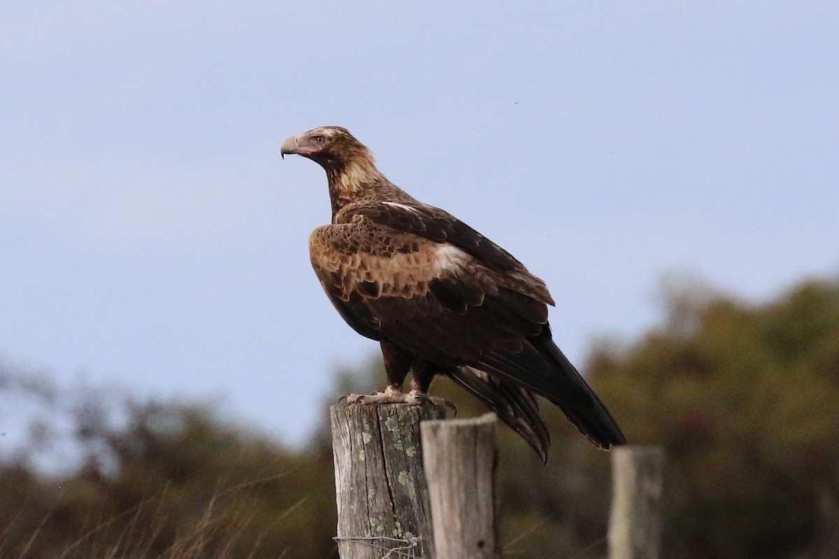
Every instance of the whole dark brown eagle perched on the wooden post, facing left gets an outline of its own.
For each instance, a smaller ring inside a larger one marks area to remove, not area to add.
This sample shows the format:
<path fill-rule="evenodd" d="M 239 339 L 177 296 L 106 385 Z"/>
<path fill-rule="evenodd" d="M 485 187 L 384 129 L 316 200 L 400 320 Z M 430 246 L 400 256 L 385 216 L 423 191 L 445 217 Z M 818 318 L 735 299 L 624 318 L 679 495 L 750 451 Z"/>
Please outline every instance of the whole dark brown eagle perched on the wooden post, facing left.
<path fill-rule="evenodd" d="M 313 128 L 280 150 L 326 171 L 330 225 L 309 237 L 312 267 L 358 334 L 381 345 L 387 387 L 348 404 L 422 404 L 435 375 L 471 391 L 547 463 L 537 396 L 598 448 L 625 444 L 618 423 L 556 346 L 554 300 L 539 277 L 461 220 L 381 173 L 346 128 Z M 412 373 L 410 390 L 404 381 Z"/>

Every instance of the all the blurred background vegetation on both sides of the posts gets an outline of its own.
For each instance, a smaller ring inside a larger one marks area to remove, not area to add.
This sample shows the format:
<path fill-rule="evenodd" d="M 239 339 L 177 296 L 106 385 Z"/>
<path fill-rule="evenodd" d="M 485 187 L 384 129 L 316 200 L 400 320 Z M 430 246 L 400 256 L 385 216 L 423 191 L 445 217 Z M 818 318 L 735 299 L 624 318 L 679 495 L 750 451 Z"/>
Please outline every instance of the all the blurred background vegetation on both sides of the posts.
<path fill-rule="evenodd" d="M 839 279 L 764 303 L 690 283 L 670 285 L 663 300 L 658 325 L 599 342 L 583 367 L 632 443 L 665 448 L 663 556 L 839 556 Z M 380 367 L 338 371 L 306 448 L 213 406 L 62 392 L 0 369 L 0 396 L 42 410 L 0 463 L 0 556 L 336 556 L 326 407 L 379 386 Z M 461 416 L 483 411 L 444 381 L 433 391 Z M 544 412 L 548 467 L 500 430 L 503 556 L 604 556 L 608 454 Z M 62 429 L 81 462 L 40 467 Z"/>

